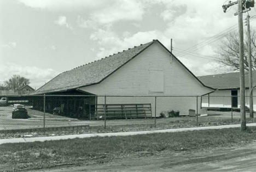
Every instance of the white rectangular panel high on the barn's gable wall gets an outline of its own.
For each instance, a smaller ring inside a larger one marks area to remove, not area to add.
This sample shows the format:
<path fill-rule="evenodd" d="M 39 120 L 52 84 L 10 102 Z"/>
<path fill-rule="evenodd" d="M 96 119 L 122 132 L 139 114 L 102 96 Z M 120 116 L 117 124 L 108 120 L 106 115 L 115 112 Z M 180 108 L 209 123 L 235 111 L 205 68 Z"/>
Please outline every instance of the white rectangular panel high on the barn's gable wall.
<path fill-rule="evenodd" d="M 164 71 L 149 71 L 149 91 L 164 92 Z"/>

